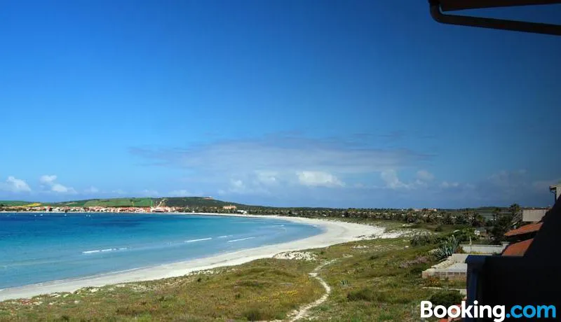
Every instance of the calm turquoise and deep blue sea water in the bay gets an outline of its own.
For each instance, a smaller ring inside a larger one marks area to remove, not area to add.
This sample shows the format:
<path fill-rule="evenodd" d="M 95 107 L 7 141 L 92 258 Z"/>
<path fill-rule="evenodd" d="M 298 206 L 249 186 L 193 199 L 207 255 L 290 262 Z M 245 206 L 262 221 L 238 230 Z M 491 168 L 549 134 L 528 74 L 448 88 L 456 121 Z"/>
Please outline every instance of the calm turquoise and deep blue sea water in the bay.
<path fill-rule="evenodd" d="M 320 232 L 268 218 L 0 214 L 0 288 L 203 258 Z"/>

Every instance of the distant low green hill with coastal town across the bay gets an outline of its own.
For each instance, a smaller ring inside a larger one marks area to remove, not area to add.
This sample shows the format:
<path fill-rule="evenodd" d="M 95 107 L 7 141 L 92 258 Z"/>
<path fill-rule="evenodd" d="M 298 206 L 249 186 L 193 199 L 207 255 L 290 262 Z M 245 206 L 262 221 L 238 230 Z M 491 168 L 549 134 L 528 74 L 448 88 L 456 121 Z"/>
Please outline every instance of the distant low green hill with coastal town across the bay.
<path fill-rule="evenodd" d="M 248 207 L 245 204 L 235 202 L 224 202 L 209 197 L 162 197 L 162 198 L 110 198 L 74 200 L 68 202 L 25 202 L 25 201 L 1 201 L 4 207 L 223 207 L 234 205 L 237 207 Z"/>

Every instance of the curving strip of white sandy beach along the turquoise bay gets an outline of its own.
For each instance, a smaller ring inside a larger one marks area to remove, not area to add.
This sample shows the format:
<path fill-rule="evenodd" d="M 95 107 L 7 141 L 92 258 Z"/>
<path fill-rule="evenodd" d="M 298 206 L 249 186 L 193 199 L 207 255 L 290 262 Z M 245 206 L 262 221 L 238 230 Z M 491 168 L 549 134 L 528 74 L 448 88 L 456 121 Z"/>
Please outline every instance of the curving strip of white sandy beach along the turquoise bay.
<path fill-rule="evenodd" d="M 193 214 L 201 215 L 201 214 Z M 21 286 L 15 288 L 6 288 L 0 290 L 0 301 L 32 297 L 46 293 L 57 292 L 74 292 L 79 288 L 88 286 L 104 286 L 115 283 L 126 283 L 134 281 L 149 281 L 154 279 L 163 279 L 167 277 L 182 276 L 190 272 L 212 269 L 220 266 L 239 265 L 244 262 L 250 262 L 259 258 L 272 258 L 277 253 L 286 251 L 299 251 L 309 248 L 321 248 L 334 244 L 344 243 L 346 241 L 355 241 L 360 239 L 367 239 L 379 237 L 384 233 L 384 228 L 379 228 L 371 225 L 360 225 L 356 223 L 344 223 L 342 221 L 328 221 L 322 219 L 299 218 L 299 217 L 285 217 L 285 216 L 252 216 L 252 215 L 237 215 L 237 214 L 203 214 L 212 216 L 244 216 L 256 218 L 277 218 L 285 219 L 295 223 L 304 223 L 309 225 L 316 225 L 323 229 L 323 233 L 289 241 L 283 244 L 275 244 L 269 246 L 262 246 L 258 248 L 250 248 L 242 251 L 232 253 L 223 253 L 208 258 L 201 258 L 196 260 L 188 260 L 184 262 L 174 262 L 171 264 L 158 265 L 154 267 L 144 267 L 140 269 L 128 270 L 126 272 L 116 272 L 110 274 L 102 274 L 97 276 L 90 276 L 83 279 L 69 279 L 63 281 L 52 281 L 48 283 L 38 283 L 28 286 Z"/>

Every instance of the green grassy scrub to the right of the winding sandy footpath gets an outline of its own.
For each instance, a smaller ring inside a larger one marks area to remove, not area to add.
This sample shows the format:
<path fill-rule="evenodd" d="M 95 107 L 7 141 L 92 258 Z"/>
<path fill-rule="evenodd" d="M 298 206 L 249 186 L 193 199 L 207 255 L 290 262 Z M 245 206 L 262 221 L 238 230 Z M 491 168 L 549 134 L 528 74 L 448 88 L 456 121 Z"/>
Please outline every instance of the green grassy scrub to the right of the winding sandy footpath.
<path fill-rule="evenodd" d="M 407 239 L 325 248 L 320 255 L 339 260 L 323 269 L 332 293 L 311 315 L 317 321 L 419 321 L 420 301 L 436 292 L 421 279 L 435 263 L 431 248 L 412 248 Z"/>

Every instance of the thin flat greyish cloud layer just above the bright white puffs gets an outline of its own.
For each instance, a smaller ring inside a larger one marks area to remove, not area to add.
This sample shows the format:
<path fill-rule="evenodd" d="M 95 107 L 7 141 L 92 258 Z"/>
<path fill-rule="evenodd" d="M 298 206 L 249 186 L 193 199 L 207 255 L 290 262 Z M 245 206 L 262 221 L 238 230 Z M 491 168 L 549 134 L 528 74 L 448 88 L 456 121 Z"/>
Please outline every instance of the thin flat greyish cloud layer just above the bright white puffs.
<path fill-rule="evenodd" d="M 380 149 L 352 141 L 303 137 L 266 137 L 218 141 L 189 148 L 133 148 L 131 153 L 156 165 L 181 167 L 205 175 L 295 173 L 314 169 L 330 174 L 367 174 L 414 165 L 428 158 L 407 149 Z"/>

